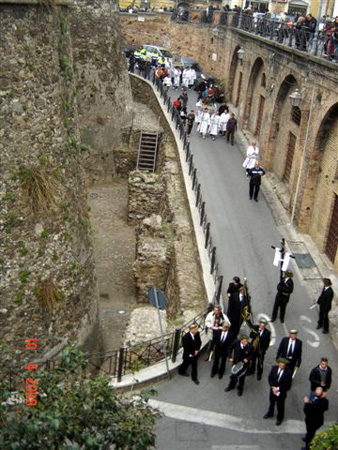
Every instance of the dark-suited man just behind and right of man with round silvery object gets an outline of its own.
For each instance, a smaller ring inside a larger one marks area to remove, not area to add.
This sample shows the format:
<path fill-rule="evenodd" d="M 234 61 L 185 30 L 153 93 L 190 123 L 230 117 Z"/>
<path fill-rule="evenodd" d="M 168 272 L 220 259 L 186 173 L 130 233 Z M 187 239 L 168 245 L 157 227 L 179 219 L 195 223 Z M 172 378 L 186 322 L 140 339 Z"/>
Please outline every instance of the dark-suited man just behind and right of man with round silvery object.
<path fill-rule="evenodd" d="M 252 339 L 253 358 L 249 374 L 254 374 L 257 361 L 257 380 L 262 378 L 265 353 L 270 345 L 271 331 L 266 328 L 267 321 L 261 319 L 258 325 L 252 327 L 250 338 Z"/>

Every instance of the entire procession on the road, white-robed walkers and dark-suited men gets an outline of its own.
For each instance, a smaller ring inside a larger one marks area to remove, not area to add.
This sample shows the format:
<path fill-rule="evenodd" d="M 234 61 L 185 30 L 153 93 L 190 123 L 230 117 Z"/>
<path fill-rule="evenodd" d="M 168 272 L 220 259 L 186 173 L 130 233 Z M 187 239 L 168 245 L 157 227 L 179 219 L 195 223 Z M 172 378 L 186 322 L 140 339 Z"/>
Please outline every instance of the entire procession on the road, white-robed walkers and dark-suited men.
<path fill-rule="evenodd" d="M 162 67 L 156 71 L 156 77 L 161 79 L 166 88 L 173 88 L 177 92 L 173 101 L 174 109 L 179 113 L 189 138 L 195 132 L 203 139 L 210 137 L 211 141 L 223 139 L 222 142 L 234 145 L 237 131 L 237 119 L 225 102 L 215 102 L 215 91 L 212 84 L 201 83 L 195 86 L 198 93 L 195 109 L 188 113 L 188 100 L 190 89 L 195 84 L 179 67 Z M 246 150 L 243 162 L 245 175 L 249 179 L 249 199 L 258 201 L 261 179 L 265 170 L 260 165 L 260 149 L 255 140 Z M 317 300 L 319 317 L 317 330 L 322 329 L 323 334 L 329 331 L 329 312 L 334 296 L 331 280 L 323 279 L 323 289 Z M 257 381 L 262 380 L 263 374 L 269 384 L 266 399 L 267 410 L 263 419 L 273 418 L 276 409 L 276 426 L 280 426 L 285 418 L 285 404 L 289 391 L 294 384 L 294 378 L 301 367 L 303 342 L 296 329 L 290 329 L 288 336 L 284 336 L 277 343 L 275 363 L 272 367 L 265 367 L 265 357 L 271 353 L 271 329 L 269 323 L 277 320 L 283 324 L 286 308 L 294 290 L 293 273 L 286 270 L 277 284 L 277 292 L 272 306 L 269 320 L 259 317 L 254 323 L 251 308 L 251 298 L 247 286 L 235 276 L 227 290 L 227 310 L 223 311 L 220 305 L 214 305 L 205 319 L 205 333 L 207 335 L 206 348 L 202 348 L 200 331 L 204 327 L 192 324 L 182 338 L 183 362 L 178 370 L 181 376 L 191 376 L 196 385 L 200 385 L 198 377 L 198 360 L 204 352 L 204 361 L 210 364 L 210 377 L 223 379 L 228 382 L 224 391 L 231 397 L 231 391 L 236 390 L 238 397 L 245 396 L 245 386 L 252 383 L 253 375 Z M 225 305 L 224 305 L 225 306 Z M 189 374 L 190 371 L 190 374 Z M 252 378 L 250 378 L 250 376 Z M 324 423 L 324 413 L 329 408 L 327 392 L 332 383 L 332 369 L 328 365 L 326 356 L 308 375 L 310 386 L 308 395 L 304 397 L 304 414 L 306 435 L 303 440 L 305 449 L 310 449 L 311 441 L 316 431 Z M 265 378 L 264 377 L 264 378 Z M 225 395 L 225 394 L 224 394 Z"/>

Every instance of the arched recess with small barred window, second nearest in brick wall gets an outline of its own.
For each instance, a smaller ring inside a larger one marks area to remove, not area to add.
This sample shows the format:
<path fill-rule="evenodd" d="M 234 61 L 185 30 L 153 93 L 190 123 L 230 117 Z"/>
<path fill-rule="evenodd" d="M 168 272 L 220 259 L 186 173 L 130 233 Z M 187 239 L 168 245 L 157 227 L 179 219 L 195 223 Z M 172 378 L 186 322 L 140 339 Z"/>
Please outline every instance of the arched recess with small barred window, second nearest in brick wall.
<path fill-rule="evenodd" d="M 282 148 L 281 142 L 288 142 L 290 133 L 295 135 L 296 138 L 299 136 L 297 125 L 291 121 L 291 105 L 289 102 L 289 95 L 297 87 L 299 88 L 299 83 L 292 74 L 287 75 L 280 84 L 273 107 L 268 143 L 264 153 L 265 166 L 269 170 L 275 171 L 281 180 L 283 179 L 287 151 L 287 149 Z M 277 147 L 281 151 L 278 151 L 276 156 Z"/>

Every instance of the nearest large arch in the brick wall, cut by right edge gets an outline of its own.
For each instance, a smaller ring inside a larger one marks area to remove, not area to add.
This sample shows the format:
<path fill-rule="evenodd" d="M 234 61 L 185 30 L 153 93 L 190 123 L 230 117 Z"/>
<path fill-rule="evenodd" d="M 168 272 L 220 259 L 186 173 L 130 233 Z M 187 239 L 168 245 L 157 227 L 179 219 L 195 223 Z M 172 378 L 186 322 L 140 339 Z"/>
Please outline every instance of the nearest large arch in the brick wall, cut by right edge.
<path fill-rule="evenodd" d="M 338 102 L 328 109 L 315 136 L 299 220 L 300 228 L 309 232 L 323 253 L 338 195 L 337 142 Z M 337 252 L 331 261 L 338 266 Z"/>

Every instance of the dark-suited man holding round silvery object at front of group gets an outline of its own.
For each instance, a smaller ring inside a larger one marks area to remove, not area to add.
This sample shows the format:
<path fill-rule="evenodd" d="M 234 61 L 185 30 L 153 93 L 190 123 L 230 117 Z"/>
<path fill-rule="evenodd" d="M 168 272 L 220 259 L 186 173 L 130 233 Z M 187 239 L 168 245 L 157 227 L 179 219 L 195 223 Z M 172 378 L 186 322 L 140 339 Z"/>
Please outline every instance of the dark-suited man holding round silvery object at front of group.
<path fill-rule="evenodd" d="M 246 372 L 249 369 L 252 360 L 252 346 L 249 344 L 248 336 L 244 334 L 241 336 L 240 340 L 236 339 L 229 348 L 229 355 L 232 354 L 233 357 L 229 359 L 232 361 L 233 365 L 241 362 L 243 363 L 243 368 L 237 373 L 232 373 L 229 385 L 224 390 L 225 392 L 229 392 L 232 389 L 235 389 L 238 382 L 237 394 L 241 397 L 243 395 Z"/>

